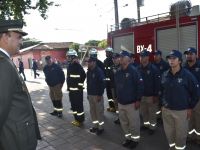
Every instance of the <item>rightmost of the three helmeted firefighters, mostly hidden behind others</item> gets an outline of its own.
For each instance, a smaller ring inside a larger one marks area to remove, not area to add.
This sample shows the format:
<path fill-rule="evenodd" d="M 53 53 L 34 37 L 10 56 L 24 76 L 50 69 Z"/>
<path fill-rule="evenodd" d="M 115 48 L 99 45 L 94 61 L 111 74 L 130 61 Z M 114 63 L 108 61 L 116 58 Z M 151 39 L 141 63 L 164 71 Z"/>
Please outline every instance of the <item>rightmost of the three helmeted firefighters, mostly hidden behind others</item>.
<path fill-rule="evenodd" d="M 111 81 L 110 81 L 110 76 L 111 76 L 111 67 L 113 66 L 113 61 L 112 61 L 112 55 L 113 55 L 113 48 L 108 47 L 106 48 L 106 59 L 104 60 L 104 66 L 105 66 L 105 80 L 106 80 L 106 94 L 108 98 L 108 104 L 109 107 L 107 108 L 107 111 L 110 112 L 115 112 L 115 104 L 114 100 L 112 97 L 112 89 L 111 89 Z"/>

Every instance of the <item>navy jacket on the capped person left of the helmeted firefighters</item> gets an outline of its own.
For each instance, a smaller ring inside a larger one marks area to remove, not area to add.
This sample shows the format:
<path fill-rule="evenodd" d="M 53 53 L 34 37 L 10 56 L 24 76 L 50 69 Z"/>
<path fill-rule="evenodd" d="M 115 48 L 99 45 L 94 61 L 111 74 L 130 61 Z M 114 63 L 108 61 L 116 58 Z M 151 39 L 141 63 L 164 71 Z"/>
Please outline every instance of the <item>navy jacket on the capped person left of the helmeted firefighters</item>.
<path fill-rule="evenodd" d="M 51 87 L 65 82 L 65 75 L 62 68 L 55 63 L 52 63 L 50 66 L 45 65 L 43 72 L 47 85 Z"/>

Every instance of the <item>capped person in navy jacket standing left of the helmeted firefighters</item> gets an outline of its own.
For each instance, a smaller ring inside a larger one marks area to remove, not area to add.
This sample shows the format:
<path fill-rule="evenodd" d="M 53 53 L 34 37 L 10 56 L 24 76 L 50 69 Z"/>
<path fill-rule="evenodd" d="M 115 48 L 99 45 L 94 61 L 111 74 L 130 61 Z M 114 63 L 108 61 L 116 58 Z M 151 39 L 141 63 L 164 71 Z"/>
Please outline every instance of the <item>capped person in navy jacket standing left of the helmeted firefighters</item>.
<path fill-rule="evenodd" d="M 51 56 L 46 56 L 45 61 L 46 65 L 44 66 L 43 72 L 45 81 L 49 86 L 49 95 L 54 106 L 54 111 L 50 114 L 61 118 L 63 111 L 62 87 L 65 82 L 65 75 L 62 68 L 52 61 Z"/>

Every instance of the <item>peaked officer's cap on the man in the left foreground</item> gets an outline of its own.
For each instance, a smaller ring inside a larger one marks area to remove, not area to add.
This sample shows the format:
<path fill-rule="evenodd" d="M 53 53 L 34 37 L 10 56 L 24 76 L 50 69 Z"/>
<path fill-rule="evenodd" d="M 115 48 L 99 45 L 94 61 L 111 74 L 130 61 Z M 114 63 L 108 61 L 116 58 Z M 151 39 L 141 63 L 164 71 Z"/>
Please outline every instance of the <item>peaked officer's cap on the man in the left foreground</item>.
<path fill-rule="evenodd" d="M 17 32 L 22 36 L 27 35 L 28 33 L 22 30 L 23 22 L 21 20 L 0 20 L 0 33 L 5 32 Z"/>

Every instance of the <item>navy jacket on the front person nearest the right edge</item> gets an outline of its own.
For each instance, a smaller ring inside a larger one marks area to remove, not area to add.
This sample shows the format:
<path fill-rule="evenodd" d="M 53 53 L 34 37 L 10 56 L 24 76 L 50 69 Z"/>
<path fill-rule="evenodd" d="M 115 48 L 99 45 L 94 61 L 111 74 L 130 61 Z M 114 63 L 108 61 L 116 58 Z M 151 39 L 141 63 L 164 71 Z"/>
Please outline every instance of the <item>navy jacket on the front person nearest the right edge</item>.
<path fill-rule="evenodd" d="M 198 101 L 198 82 L 184 68 L 175 75 L 170 70 L 163 73 L 161 80 L 161 100 L 164 107 L 172 110 L 193 108 Z"/>

